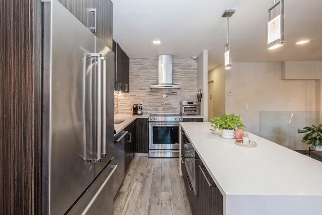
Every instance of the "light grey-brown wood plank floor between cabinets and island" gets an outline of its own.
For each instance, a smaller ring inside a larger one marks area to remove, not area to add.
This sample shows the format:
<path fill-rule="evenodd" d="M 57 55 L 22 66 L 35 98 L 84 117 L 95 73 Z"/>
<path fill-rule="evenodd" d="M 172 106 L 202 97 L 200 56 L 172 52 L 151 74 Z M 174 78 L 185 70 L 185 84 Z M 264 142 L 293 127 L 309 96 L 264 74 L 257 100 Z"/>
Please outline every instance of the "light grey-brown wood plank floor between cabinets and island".
<path fill-rule="evenodd" d="M 115 198 L 116 214 L 192 214 L 179 159 L 134 157 Z"/>

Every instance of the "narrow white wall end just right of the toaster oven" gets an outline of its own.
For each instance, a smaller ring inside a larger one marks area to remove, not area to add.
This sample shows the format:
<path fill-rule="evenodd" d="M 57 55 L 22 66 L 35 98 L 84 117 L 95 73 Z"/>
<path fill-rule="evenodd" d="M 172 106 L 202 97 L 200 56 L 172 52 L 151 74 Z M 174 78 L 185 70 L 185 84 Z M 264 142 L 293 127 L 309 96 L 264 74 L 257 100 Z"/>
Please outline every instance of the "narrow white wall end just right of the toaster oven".
<path fill-rule="evenodd" d="M 202 90 L 200 114 L 208 121 L 208 50 L 203 50 L 197 58 L 197 90 Z"/>

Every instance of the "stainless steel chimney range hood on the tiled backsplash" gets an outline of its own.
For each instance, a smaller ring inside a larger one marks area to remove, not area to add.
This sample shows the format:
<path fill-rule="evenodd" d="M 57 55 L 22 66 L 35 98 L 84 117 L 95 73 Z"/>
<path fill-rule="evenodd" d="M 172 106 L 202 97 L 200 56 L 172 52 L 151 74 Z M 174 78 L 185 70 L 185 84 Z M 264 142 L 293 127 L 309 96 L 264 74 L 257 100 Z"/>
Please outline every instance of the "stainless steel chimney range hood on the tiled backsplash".
<path fill-rule="evenodd" d="M 159 55 L 159 82 L 149 88 L 179 89 L 181 85 L 172 83 L 172 55 Z"/>

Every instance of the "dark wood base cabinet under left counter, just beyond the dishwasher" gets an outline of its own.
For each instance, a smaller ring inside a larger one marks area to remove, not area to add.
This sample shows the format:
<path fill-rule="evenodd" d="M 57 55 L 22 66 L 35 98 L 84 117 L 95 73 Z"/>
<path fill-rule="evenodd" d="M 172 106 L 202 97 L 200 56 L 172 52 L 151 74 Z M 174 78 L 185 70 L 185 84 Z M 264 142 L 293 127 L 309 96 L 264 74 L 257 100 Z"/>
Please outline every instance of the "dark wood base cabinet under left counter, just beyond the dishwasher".
<path fill-rule="evenodd" d="M 133 121 L 129 124 L 125 129 L 128 131 L 128 135 L 125 138 L 124 143 L 124 151 L 125 151 L 125 172 L 127 171 L 133 157 L 134 157 L 134 149 L 136 142 L 136 121 Z"/>

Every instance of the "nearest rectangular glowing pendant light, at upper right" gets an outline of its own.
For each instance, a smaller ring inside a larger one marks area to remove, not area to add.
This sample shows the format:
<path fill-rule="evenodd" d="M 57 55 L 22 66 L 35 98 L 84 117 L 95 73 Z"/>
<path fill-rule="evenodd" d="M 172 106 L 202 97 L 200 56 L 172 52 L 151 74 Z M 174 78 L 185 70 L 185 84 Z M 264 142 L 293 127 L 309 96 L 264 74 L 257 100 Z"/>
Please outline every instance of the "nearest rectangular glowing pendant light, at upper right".
<path fill-rule="evenodd" d="M 272 16 L 278 6 L 280 7 L 278 15 Z M 273 7 L 268 10 L 267 49 L 275 49 L 282 45 L 284 45 L 284 0 L 279 2 L 274 0 Z"/>

